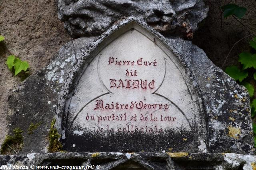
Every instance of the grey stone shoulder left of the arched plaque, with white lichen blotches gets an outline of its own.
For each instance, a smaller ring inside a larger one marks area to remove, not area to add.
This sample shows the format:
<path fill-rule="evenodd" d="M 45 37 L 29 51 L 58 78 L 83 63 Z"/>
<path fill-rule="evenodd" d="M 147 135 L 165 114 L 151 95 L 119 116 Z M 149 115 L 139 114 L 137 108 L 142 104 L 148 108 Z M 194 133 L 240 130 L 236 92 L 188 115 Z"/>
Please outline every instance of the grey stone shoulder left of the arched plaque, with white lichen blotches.
<path fill-rule="evenodd" d="M 76 57 L 93 41 L 94 37 L 74 41 Z M 29 76 L 8 97 L 8 129 L 20 127 L 24 133 L 24 149 L 21 152 L 47 152 L 50 123 L 55 115 L 58 96 L 75 55 L 72 42 L 64 45 L 51 63 Z M 28 134 L 31 123 L 41 123 L 34 134 Z"/>

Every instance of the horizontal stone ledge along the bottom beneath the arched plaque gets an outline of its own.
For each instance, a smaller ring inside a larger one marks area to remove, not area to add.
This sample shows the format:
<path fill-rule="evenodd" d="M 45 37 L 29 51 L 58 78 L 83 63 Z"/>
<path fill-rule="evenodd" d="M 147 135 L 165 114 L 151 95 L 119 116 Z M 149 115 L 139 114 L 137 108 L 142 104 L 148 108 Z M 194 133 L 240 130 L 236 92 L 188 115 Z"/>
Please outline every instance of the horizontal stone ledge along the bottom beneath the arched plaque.
<path fill-rule="evenodd" d="M 10 166 L 24 166 L 24 169 L 69 170 L 86 169 L 86 166 L 87 169 L 100 167 L 102 170 L 256 170 L 256 156 L 187 152 L 58 152 L 0 155 L 0 169 L 9 169 Z"/>

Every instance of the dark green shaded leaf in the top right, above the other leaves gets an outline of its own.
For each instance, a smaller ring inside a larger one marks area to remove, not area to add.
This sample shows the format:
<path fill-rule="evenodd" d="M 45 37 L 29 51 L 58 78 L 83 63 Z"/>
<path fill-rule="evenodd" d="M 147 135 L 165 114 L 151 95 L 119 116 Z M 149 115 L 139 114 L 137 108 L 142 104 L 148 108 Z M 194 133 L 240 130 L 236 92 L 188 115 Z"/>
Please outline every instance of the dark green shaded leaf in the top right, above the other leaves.
<path fill-rule="evenodd" d="M 221 9 L 223 10 L 224 18 L 235 15 L 236 17 L 241 19 L 247 12 L 246 8 L 238 6 L 236 4 L 227 4 L 222 6 Z"/>

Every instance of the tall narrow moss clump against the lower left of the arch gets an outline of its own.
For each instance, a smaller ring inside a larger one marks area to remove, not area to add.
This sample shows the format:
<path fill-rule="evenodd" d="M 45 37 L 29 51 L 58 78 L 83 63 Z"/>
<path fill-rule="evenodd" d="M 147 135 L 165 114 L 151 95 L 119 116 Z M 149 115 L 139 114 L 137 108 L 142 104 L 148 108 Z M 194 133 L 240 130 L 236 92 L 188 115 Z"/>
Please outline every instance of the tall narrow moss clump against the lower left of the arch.
<path fill-rule="evenodd" d="M 58 133 L 57 129 L 54 127 L 56 119 L 52 120 L 51 128 L 49 131 L 49 146 L 48 152 L 63 152 L 62 150 L 62 143 L 60 143 L 59 138 L 60 134 Z"/>

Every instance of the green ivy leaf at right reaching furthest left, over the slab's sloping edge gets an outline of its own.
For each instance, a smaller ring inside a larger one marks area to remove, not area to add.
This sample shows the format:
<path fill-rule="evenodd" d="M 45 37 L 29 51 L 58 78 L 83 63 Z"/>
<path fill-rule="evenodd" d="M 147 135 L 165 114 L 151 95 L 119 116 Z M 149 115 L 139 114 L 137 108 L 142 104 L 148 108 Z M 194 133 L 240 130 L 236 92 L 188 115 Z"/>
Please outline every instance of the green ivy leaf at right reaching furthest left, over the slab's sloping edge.
<path fill-rule="evenodd" d="M 243 70 L 241 71 L 237 66 L 228 66 L 225 70 L 225 72 L 235 80 L 239 80 L 242 82 L 247 76 L 248 72 Z"/>

